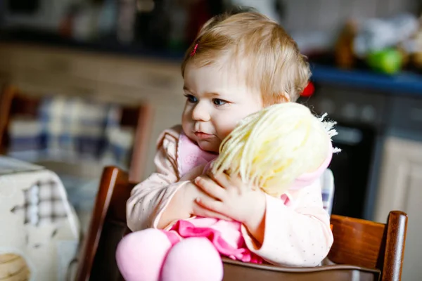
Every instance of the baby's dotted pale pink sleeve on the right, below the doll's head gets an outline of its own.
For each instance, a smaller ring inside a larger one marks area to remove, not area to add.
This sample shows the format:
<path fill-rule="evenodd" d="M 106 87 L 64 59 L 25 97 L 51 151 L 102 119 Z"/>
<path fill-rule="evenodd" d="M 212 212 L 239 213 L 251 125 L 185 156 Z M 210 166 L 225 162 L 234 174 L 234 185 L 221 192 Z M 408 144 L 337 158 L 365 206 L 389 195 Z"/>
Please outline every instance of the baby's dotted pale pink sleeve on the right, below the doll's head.
<path fill-rule="evenodd" d="M 321 181 L 290 190 L 290 202 L 267 195 L 264 241 L 257 245 L 243 227 L 248 248 L 269 263 L 317 266 L 333 244 L 330 218 L 321 198 Z"/>

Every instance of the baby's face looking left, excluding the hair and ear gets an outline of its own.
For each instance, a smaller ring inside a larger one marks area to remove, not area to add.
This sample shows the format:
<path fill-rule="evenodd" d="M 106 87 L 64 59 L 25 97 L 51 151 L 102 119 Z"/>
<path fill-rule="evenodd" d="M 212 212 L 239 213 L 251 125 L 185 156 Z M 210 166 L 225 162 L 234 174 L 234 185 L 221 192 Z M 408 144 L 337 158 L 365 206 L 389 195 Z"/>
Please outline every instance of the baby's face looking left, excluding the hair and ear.
<path fill-rule="evenodd" d="M 218 152 L 236 124 L 263 107 L 261 93 L 248 89 L 237 76 L 215 65 L 186 65 L 182 126 L 203 150 Z"/>

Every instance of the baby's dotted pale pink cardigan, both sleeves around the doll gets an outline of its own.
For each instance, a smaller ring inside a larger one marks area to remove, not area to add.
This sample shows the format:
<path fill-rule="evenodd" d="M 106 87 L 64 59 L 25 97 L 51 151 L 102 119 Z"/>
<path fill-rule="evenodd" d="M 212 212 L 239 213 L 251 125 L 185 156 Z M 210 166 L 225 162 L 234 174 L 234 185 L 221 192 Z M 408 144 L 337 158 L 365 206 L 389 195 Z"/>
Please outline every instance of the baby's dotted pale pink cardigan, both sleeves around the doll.
<path fill-rule="evenodd" d="M 157 228 L 174 193 L 188 182 L 179 181 L 177 144 L 180 132 L 181 126 L 175 126 L 161 134 L 154 161 L 157 171 L 132 190 L 127 202 L 127 224 L 132 231 Z M 264 242 L 257 245 L 248 231 L 244 227 L 241 229 L 248 249 L 273 264 L 318 265 L 333 244 L 329 216 L 322 204 L 321 181 L 289 190 L 283 199 L 269 195 L 266 198 Z"/>

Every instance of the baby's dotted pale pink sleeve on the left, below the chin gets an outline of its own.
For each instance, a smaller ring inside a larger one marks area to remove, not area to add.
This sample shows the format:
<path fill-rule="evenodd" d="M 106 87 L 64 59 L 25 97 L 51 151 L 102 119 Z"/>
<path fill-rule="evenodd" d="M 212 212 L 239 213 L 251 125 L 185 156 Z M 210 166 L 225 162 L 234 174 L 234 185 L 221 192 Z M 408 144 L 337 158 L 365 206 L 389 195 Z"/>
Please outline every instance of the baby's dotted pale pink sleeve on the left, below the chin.
<path fill-rule="evenodd" d="M 132 230 L 156 228 L 173 195 L 187 181 L 177 170 L 178 129 L 166 130 L 158 141 L 156 172 L 134 187 L 126 204 L 127 226 Z"/>

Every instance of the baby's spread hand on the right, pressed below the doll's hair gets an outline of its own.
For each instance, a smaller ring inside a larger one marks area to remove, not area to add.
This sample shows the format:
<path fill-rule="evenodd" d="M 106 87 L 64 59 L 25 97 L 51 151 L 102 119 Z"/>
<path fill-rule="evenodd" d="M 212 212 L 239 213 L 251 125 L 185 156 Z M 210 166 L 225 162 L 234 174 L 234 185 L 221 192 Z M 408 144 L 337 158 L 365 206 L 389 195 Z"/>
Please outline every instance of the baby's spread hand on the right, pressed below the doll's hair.
<path fill-rule="evenodd" d="M 239 176 L 227 174 L 199 176 L 194 181 L 207 196 L 196 199 L 196 213 L 212 211 L 243 223 L 248 230 L 259 228 L 265 214 L 265 195 L 260 188 L 252 188 Z M 201 215 L 201 214 L 198 214 Z"/>

